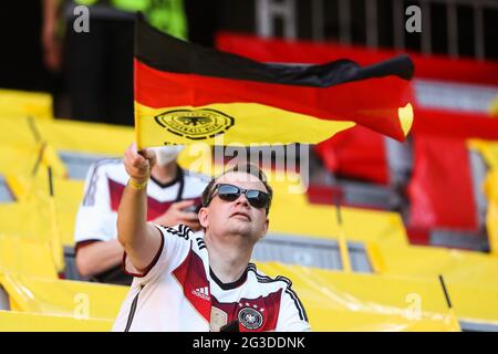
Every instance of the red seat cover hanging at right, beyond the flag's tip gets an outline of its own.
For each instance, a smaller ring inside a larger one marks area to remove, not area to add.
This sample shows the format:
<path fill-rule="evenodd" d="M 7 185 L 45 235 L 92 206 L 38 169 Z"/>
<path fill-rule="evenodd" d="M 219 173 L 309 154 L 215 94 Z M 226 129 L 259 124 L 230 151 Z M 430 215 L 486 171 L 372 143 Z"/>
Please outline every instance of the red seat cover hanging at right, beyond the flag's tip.
<path fill-rule="evenodd" d="M 414 147 L 409 226 L 474 231 L 477 212 L 465 140 L 416 136 Z"/>

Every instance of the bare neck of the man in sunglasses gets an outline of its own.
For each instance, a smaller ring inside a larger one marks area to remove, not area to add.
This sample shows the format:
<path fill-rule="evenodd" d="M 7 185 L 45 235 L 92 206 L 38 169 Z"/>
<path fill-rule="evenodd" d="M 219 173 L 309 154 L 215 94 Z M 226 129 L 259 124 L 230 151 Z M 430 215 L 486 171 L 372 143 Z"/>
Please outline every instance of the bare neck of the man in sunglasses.
<path fill-rule="evenodd" d="M 219 237 L 206 232 L 204 239 L 216 277 L 224 283 L 240 279 L 251 259 L 253 244 L 239 236 Z"/>

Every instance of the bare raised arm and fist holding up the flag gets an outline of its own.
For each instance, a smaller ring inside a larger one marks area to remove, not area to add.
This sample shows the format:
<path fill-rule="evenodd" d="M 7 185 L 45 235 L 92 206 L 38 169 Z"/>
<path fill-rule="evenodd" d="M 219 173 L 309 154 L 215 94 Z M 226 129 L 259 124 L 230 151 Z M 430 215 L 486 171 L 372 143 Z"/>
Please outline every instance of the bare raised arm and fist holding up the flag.
<path fill-rule="evenodd" d="M 131 145 L 124 156 L 128 184 L 117 210 L 117 239 L 138 270 L 146 269 L 160 247 L 160 231 L 147 223 L 147 188 L 151 168 L 155 164 L 151 149 L 137 153 Z"/>

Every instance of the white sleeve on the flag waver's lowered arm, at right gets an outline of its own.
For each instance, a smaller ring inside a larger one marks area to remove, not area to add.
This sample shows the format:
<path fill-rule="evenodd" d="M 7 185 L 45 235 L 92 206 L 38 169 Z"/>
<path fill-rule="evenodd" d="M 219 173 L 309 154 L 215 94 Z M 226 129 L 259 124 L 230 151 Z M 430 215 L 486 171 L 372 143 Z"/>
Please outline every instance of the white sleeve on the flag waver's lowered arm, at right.
<path fill-rule="evenodd" d="M 307 313 L 295 292 L 290 288 L 282 290 L 279 319 L 276 332 L 309 332 Z"/>

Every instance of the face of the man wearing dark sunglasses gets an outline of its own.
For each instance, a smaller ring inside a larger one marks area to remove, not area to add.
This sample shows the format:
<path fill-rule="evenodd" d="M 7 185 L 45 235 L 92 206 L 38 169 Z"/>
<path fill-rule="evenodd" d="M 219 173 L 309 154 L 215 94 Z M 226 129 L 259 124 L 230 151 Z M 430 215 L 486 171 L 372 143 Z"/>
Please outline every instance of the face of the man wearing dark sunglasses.
<path fill-rule="evenodd" d="M 268 192 L 258 177 L 246 173 L 229 173 L 216 180 L 216 185 L 229 184 L 243 189 L 258 189 Z M 228 236 L 241 235 L 257 242 L 267 233 L 269 220 L 264 208 L 255 208 L 241 194 L 234 201 L 226 201 L 217 192 L 208 207 L 199 211 L 200 225 L 206 232 Z"/>

